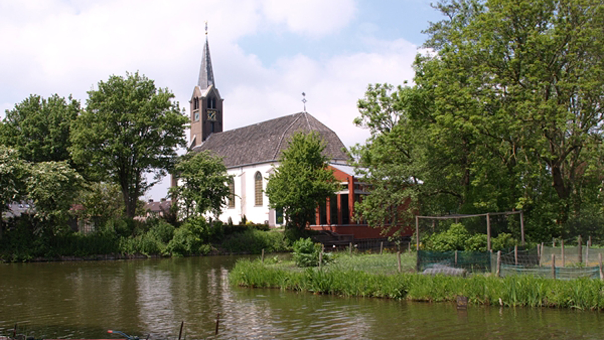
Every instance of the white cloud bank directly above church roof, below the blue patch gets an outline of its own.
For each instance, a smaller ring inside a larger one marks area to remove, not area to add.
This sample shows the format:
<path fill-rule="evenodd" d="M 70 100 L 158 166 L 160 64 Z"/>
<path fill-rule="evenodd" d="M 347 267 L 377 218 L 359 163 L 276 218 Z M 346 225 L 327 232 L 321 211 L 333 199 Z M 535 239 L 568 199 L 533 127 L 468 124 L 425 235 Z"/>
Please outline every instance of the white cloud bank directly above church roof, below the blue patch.
<path fill-rule="evenodd" d="M 402 41 L 374 41 L 383 53 L 352 53 L 315 60 L 298 55 L 279 59 L 272 69 L 259 68 L 257 77 L 239 79 L 234 88 L 222 87 L 225 127 L 245 126 L 303 109 L 338 133 L 346 146 L 363 142 L 368 132 L 352 125 L 358 116 L 356 101 L 369 83 L 402 84 L 413 79 L 411 64 L 417 47 Z M 402 48 L 404 46 L 404 48 Z M 261 71 L 262 70 L 262 71 Z M 220 80 L 219 74 L 214 74 Z M 219 87 L 220 88 L 220 87 Z"/>

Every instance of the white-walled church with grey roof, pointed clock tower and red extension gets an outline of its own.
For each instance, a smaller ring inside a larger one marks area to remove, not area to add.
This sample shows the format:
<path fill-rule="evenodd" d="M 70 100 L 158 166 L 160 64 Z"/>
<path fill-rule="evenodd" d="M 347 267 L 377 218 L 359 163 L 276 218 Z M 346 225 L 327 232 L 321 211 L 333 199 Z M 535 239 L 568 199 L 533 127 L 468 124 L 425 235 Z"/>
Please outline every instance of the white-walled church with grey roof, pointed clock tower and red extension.
<path fill-rule="evenodd" d="M 216 87 L 210 48 L 206 35 L 198 84 L 190 100 L 189 152 L 211 151 L 223 158 L 230 183 L 231 197 L 220 220 L 239 223 L 243 217 L 270 227 L 284 223 L 283 212 L 269 209 L 265 194 L 266 178 L 278 166 L 281 151 L 288 147 L 291 136 L 298 131 L 316 131 L 326 143 L 324 153 L 341 190 L 317 208 L 316 221 L 310 227 L 356 238 L 380 237 L 379 230 L 353 220 L 355 201 L 367 194 L 362 183 L 353 176 L 345 146 L 330 128 L 306 111 L 289 114 L 265 122 L 223 131 L 223 119 L 235 119 L 237 113 L 223 112 L 223 99 Z"/>

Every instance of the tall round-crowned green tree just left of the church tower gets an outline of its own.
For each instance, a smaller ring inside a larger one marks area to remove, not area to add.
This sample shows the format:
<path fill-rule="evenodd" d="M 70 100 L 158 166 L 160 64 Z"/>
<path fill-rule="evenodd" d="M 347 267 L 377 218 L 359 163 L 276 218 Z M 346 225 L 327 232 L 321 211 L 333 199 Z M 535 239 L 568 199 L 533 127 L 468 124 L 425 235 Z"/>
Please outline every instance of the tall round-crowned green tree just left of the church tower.
<path fill-rule="evenodd" d="M 176 148 L 185 146 L 187 117 L 169 90 L 138 72 L 100 81 L 88 96 L 72 126 L 72 156 L 88 167 L 91 178 L 120 186 L 132 218 L 138 198 L 172 169 Z"/>

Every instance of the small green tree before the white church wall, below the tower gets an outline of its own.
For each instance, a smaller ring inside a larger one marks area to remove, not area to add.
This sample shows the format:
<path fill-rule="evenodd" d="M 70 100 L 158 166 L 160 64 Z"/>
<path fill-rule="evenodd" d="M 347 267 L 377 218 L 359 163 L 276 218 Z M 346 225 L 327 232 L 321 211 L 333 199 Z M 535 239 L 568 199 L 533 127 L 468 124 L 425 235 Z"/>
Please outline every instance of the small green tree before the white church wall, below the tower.
<path fill-rule="evenodd" d="M 206 212 L 220 215 L 230 194 L 231 176 L 220 157 L 208 151 L 189 152 L 174 169 L 178 186 L 170 188 L 178 213 L 184 218 L 201 217 Z"/>

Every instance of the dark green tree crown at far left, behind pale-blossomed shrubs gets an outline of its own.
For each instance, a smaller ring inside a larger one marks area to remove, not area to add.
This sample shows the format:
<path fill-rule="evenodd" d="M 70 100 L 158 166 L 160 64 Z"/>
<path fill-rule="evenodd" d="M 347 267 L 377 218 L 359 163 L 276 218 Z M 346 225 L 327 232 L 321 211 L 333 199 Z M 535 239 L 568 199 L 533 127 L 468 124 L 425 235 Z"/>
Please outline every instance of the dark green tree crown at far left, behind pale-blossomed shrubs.
<path fill-rule="evenodd" d="M 30 162 L 71 160 L 70 126 L 79 111 L 80 102 L 71 96 L 44 99 L 32 94 L 5 111 L 0 143 L 17 149 Z"/>

